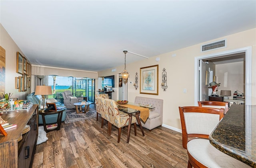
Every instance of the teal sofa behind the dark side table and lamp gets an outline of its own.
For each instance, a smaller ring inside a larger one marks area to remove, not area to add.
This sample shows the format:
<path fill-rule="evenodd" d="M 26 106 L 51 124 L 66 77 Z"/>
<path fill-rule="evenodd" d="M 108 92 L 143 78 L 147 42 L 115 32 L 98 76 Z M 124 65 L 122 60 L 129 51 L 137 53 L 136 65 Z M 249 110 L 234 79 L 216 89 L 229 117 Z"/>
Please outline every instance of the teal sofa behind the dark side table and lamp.
<path fill-rule="evenodd" d="M 40 98 L 42 98 L 42 96 L 41 95 L 35 95 L 35 92 L 32 92 L 31 94 L 29 94 L 27 96 L 27 100 L 29 100 L 32 104 L 38 104 L 38 105 L 40 105 Z M 57 100 L 55 100 L 55 99 L 49 99 L 49 100 L 46 100 L 46 102 L 47 103 L 55 103 L 56 107 L 65 107 L 60 102 L 57 102 Z M 58 114 L 45 115 L 46 124 L 56 123 L 57 122 L 57 117 L 58 117 Z M 66 110 L 64 110 L 63 113 L 62 113 L 61 121 L 65 121 L 65 119 L 66 119 Z M 39 115 L 38 123 L 43 124 L 42 115 Z"/>

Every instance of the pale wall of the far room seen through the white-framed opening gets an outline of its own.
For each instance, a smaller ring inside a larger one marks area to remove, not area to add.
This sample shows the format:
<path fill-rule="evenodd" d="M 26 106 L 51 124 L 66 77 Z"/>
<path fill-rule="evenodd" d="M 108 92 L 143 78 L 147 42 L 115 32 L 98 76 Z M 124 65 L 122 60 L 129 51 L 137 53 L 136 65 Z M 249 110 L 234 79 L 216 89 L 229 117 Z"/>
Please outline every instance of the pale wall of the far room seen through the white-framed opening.
<path fill-rule="evenodd" d="M 220 90 L 231 90 L 230 99 L 236 90 L 245 93 L 245 63 L 228 63 L 216 65 L 216 76 L 220 87 L 217 94 L 220 95 Z M 226 78 L 226 79 L 225 79 Z"/>

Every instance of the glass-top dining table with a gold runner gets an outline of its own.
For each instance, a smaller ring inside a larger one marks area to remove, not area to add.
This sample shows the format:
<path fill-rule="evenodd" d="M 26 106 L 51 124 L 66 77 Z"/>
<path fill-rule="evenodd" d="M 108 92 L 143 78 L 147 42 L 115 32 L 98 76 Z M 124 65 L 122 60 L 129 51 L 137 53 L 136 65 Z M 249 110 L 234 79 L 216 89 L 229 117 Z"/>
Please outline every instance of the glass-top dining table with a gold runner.
<path fill-rule="evenodd" d="M 155 107 L 152 106 L 146 106 L 142 104 L 134 104 L 128 102 L 127 104 L 117 104 L 118 110 L 127 113 L 129 115 L 129 124 L 128 124 L 128 135 L 126 142 L 129 143 L 130 140 L 130 131 L 131 131 L 131 125 L 132 125 L 132 115 L 135 115 L 137 123 L 140 127 L 140 131 L 142 132 L 142 135 L 144 136 L 143 127 L 141 125 L 142 122 L 146 122 L 149 116 L 150 109 L 154 109 Z"/>

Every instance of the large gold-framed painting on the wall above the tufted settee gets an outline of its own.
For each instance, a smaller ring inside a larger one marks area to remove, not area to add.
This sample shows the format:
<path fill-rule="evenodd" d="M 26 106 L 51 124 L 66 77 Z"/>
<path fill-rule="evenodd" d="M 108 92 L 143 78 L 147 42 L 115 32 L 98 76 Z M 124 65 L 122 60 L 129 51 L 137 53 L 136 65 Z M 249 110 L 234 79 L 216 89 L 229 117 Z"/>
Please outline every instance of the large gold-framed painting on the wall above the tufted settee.
<path fill-rule="evenodd" d="M 140 93 L 158 95 L 158 65 L 140 68 Z"/>

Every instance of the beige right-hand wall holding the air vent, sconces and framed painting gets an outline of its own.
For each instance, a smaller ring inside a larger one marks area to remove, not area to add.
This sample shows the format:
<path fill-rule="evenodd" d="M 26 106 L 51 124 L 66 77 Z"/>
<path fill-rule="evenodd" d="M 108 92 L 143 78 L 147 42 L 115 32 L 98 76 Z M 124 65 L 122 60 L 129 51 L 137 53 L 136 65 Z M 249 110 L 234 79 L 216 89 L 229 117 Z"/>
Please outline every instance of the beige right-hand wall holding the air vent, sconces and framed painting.
<path fill-rule="evenodd" d="M 227 47 L 217 50 L 212 50 L 202 53 L 200 47 L 202 44 L 211 43 L 214 41 L 226 39 Z M 256 104 L 256 29 L 250 29 L 240 33 L 220 37 L 211 41 L 206 41 L 197 45 L 186 47 L 180 50 L 172 51 L 158 55 L 160 61 L 155 61 L 156 57 L 150 59 L 144 59 L 136 63 L 126 65 L 126 69 L 130 72 L 130 78 L 128 81 L 135 81 L 135 73 L 140 72 L 140 67 L 159 64 L 159 81 L 162 81 L 161 74 L 162 69 L 165 68 L 167 72 L 167 85 L 168 88 L 164 92 L 159 86 L 159 95 L 140 94 L 140 90 L 135 90 L 132 84 L 128 83 L 128 101 L 134 102 L 135 96 L 145 96 L 149 98 L 159 98 L 164 100 L 164 117 L 163 125 L 171 129 L 181 129 L 180 115 L 178 106 L 194 105 L 194 59 L 195 57 L 210 55 L 213 53 L 220 53 L 224 51 L 230 51 L 233 49 L 240 49 L 243 47 L 252 46 L 252 104 Z M 176 57 L 172 57 L 176 54 Z M 129 55 L 127 55 L 129 59 Z M 113 67 L 116 68 L 116 72 L 111 72 L 111 69 L 103 70 L 99 72 L 99 76 L 116 75 L 118 72 L 122 72 L 124 66 Z M 139 75 L 140 78 L 140 75 Z M 115 76 L 116 79 L 116 76 Z M 115 85 L 118 86 L 118 85 Z M 187 93 L 183 93 L 183 89 L 187 89 Z M 118 95 L 118 92 L 112 93 L 112 95 Z M 116 96 L 117 97 L 117 96 Z"/>

